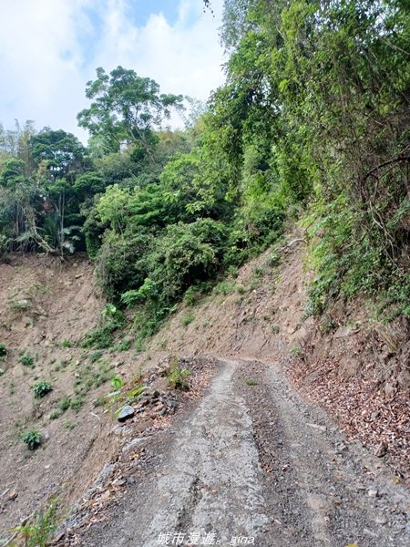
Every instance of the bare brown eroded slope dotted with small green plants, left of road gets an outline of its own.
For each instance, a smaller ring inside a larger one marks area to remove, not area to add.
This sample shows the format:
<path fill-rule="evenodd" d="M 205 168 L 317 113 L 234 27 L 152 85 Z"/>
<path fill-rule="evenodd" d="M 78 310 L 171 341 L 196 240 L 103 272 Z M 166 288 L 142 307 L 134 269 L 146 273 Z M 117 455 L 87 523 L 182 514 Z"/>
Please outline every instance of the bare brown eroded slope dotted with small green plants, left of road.
<path fill-rule="evenodd" d="M 103 305 L 92 279 L 92 267 L 81 257 L 60 263 L 15 255 L 0 263 L 0 342 L 6 348 L 0 363 L 2 536 L 49 496 L 75 489 L 78 470 L 85 467 L 85 476 L 93 476 L 87 454 L 105 427 L 93 400 L 113 373 L 102 352 L 93 358 L 76 347 Z M 38 382 L 52 387 L 46 397 L 35 397 Z M 30 451 L 21 436 L 33 430 L 41 446 Z"/>

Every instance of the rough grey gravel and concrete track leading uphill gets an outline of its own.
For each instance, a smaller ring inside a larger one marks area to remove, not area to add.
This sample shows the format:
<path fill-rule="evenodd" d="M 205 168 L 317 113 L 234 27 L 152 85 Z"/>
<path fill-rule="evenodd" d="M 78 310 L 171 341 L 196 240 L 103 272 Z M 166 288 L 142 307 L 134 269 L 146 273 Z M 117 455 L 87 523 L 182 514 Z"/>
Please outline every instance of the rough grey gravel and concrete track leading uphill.
<path fill-rule="evenodd" d="M 134 443 L 146 465 L 84 545 L 410 544 L 410 496 L 275 366 L 220 360 L 206 395 Z"/>

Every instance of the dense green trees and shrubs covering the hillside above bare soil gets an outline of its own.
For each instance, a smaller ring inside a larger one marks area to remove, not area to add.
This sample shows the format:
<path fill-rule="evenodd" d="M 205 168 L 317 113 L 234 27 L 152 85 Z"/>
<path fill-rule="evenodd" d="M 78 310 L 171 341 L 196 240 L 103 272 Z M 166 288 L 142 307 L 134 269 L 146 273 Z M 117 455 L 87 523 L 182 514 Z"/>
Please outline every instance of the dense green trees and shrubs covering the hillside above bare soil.
<path fill-rule="evenodd" d="M 221 39 L 226 83 L 184 130 L 163 129 L 183 98 L 122 67 L 87 84 L 87 148 L 63 130 L 1 129 L 2 252 L 87 249 L 143 336 L 299 219 L 308 314 L 364 294 L 409 316 L 408 2 L 226 0 Z"/>

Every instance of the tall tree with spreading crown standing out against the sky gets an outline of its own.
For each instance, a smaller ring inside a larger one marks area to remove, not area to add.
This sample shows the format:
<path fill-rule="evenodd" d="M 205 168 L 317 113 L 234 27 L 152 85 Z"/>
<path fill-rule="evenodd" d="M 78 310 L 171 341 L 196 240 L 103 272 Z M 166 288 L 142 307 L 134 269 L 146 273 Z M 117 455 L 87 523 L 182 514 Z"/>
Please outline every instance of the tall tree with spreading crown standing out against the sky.
<path fill-rule="evenodd" d="M 150 154 L 158 140 L 154 129 L 169 119 L 171 108 L 182 108 L 181 95 L 160 94 L 155 80 L 123 67 L 109 75 L 97 68 L 97 79 L 87 82 L 86 96 L 93 102 L 78 113 L 78 125 L 92 138 L 99 137 L 107 152 L 132 145 L 136 159 Z"/>

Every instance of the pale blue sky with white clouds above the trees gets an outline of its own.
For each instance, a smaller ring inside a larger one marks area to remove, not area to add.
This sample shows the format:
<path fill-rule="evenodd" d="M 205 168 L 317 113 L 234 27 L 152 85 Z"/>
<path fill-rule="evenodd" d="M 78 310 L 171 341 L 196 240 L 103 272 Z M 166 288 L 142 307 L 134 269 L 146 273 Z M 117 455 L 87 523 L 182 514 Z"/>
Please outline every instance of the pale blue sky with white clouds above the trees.
<path fill-rule="evenodd" d="M 153 77 L 164 92 L 206 99 L 223 81 L 222 0 L 0 0 L 0 122 L 34 119 L 81 139 L 95 69 L 121 65 Z"/>

